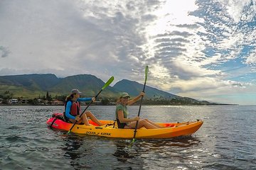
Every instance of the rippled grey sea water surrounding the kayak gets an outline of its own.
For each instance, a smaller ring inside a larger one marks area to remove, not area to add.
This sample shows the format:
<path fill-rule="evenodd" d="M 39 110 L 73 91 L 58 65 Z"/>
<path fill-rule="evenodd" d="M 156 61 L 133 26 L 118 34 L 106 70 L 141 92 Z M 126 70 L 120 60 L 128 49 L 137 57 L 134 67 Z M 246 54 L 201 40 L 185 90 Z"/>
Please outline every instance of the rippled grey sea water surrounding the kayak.
<path fill-rule="evenodd" d="M 114 106 L 90 106 L 114 119 Z M 130 116 L 139 106 L 129 106 Z M 62 106 L 0 106 L 0 169 L 256 169 L 256 106 L 142 106 L 156 122 L 201 119 L 191 137 L 131 140 L 66 135 L 46 120 Z"/>

